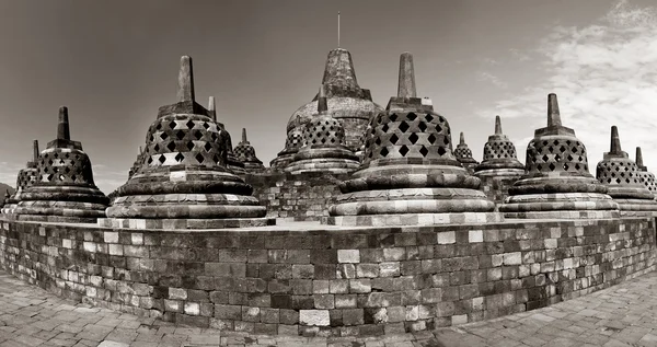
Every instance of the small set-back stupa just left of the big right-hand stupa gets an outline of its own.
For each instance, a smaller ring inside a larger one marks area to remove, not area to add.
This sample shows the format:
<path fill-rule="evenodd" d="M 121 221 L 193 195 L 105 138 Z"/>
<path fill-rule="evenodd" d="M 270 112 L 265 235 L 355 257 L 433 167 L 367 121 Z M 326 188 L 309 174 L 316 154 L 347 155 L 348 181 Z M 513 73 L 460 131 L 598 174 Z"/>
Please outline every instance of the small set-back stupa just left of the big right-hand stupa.
<path fill-rule="evenodd" d="M 525 165 L 518 161 L 516 146 L 502 134 L 499 116 L 495 116 L 495 134 L 488 136 L 488 141 L 484 144 L 484 159 L 474 171 L 479 177 L 525 174 Z"/>

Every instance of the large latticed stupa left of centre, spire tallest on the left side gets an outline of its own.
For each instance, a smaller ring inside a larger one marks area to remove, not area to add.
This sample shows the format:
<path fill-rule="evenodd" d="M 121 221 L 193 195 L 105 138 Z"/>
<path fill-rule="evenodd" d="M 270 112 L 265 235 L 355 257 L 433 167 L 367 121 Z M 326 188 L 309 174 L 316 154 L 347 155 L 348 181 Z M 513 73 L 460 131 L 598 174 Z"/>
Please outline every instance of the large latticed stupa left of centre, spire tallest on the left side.
<path fill-rule="evenodd" d="M 181 58 L 178 102 L 160 107 L 141 169 L 117 189 L 102 227 L 208 229 L 265 225 L 253 188 L 226 166 L 221 128 L 194 96 L 192 58 Z"/>

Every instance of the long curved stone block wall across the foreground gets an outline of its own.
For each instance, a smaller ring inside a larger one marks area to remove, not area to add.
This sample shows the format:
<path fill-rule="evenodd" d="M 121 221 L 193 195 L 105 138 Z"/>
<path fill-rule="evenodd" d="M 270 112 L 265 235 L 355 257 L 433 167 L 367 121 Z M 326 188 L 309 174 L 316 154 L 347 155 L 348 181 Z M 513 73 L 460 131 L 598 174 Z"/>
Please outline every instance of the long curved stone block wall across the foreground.
<path fill-rule="evenodd" d="M 256 334 L 380 335 L 545 306 L 655 269 L 655 220 L 174 233 L 2 222 L 59 296 Z"/>

